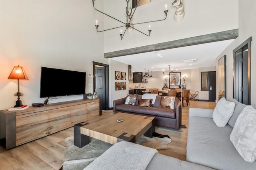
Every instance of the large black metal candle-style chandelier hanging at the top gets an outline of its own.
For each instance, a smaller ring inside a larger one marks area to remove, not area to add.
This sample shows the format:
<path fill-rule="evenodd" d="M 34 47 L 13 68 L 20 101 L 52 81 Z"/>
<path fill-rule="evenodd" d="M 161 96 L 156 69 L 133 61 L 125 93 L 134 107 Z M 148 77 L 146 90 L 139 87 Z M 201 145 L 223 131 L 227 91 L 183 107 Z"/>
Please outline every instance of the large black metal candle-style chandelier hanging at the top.
<path fill-rule="evenodd" d="M 94 6 L 95 0 L 92 0 L 93 8 L 94 8 L 96 11 L 98 11 L 98 12 L 100 12 L 100 13 L 102 13 L 102 14 L 104 14 L 104 15 L 110 17 L 110 18 L 113 18 L 114 20 L 117 20 L 117 21 L 121 22 L 122 24 L 124 24 L 124 25 L 119 26 L 119 27 L 114 27 L 114 28 L 110 28 L 110 29 L 105 29 L 105 30 L 99 31 L 99 30 L 98 30 L 98 27 L 99 27 L 98 21 L 96 20 L 96 25 L 95 25 L 95 27 L 96 27 L 97 32 L 108 31 L 108 30 L 111 30 L 111 29 L 116 29 L 116 28 L 120 28 L 120 27 L 124 27 L 124 26 L 125 26 L 126 28 L 125 28 L 125 30 L 124 30 L 124 33 L 122 33 L 122 30 L 120 31 L 121 40 L 123 39 L 124 34 L 126 33 L 126 31 L 128 31 L 128 29 L 135 29 L 136 31 L 139 31 L 140 33 L 142 33 L 142 34 L 144 34 L 144 35 L 146 35 L 146 36 L 149 37 L 149 36 L 150 36 L 150 33 L 151 33 L 150 25 L 149 25 L 149 29 L 148 29 L 148 33 L 149 33 L 149 34 L 143 33 L 142 31 L 140 31 L 140 30 L 134 28 L 134 25 L 136 25 L 136 24 L 142 24 L 142 23 L 156 22 L 156 21 L 163 21 L 163 20 L 165 20 L 165 19 L 167 18 L 167 12 L 168 12 L 168 10 L 167 10 L 167 5 L 165 5 L 165 10 L 164 10 L 165 18 L 164 18 L 164 19 L 162 19 L 162 20 L 155 20 L 155 21 L 146 21 L 146 22 L 140 22 L 140 23 L 132 23 L 132 22 L 131 22 L 132 17 L 133 17 L 133 15 L 134 15 L 134 12 L 135 12 L 136 9 L 137 9 L 138 4 L 140 3 L 140 0 L 139 0 L 138 3 L 136 4 L 136 7 L 135 7 L 133 13 L 132 13 L 132 8 L 129 8 L 129 1 L 130 1 L 130 0 L 126 0 L 126 2 L 127 2 L 127 6 L 126 6 L 126 17 L 127 17 L 127 18 L 126 18 L 126 23 L 124 23 L 123 21 L 120 21 L 120 20 L 118 20 L 118 19 L 116 19 L 116 18 L 114 18 L 114 17 L 112 17 L 112 16 L 110 16 L 110 15 L 108 15 L 108 14 L 105 14 L 104 12 L 101 12 L 100 10 L 97 10 L 97 9 L 95 8 L 95 6 Z"/>

